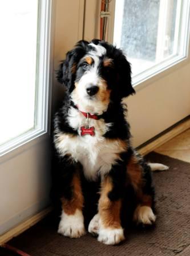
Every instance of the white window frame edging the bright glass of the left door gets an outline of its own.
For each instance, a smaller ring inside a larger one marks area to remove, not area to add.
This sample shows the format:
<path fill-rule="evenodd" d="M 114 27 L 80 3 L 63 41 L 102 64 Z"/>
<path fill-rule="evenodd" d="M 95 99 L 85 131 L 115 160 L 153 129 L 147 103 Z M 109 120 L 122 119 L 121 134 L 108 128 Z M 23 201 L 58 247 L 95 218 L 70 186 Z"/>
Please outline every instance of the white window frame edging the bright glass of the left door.
<path fill-rule="evenodd" d="M 35 97 L 35 127 L 11 139 L 0 146 L 1 161 L 20 153 L 35 139 L 45 139 L 50 135 L 51 90 L 52 90 L 52 0 L 38 2 L 38 37 L 37 37 L 37 79 Z M 7 154 L 9 153 L 9 154 Z M 11 154 L 10 154 L 11 153 Z M 3 158 L 2 158 L 3 156 Z"/>

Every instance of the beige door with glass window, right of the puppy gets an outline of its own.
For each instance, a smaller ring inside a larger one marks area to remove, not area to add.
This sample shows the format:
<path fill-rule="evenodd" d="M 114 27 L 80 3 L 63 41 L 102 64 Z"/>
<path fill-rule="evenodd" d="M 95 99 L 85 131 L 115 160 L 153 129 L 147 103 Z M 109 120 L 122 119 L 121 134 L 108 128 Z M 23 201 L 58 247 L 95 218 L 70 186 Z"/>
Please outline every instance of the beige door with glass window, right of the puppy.
<path fill-rule="evenodd" d="M 108 4 L 106 41 L 123 49 L 136 95 L 126 99 L 134 146 L 190 114 L 189 0 L 86 1 L 84 39 L 99 38 Z M 95 17 L 95 22 L 91 22 Z"/>

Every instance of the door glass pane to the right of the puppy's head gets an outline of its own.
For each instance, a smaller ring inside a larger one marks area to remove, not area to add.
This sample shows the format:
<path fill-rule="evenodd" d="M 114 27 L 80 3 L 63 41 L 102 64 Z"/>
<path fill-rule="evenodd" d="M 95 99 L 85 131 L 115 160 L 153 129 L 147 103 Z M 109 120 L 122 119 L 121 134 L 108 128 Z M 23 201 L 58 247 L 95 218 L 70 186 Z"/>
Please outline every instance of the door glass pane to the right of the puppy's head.
<path fill-rule="evenodd" d="M 132 64 L 132 75 L 180 54 L 178 0 L 116 0 L 114 43 Z"/>

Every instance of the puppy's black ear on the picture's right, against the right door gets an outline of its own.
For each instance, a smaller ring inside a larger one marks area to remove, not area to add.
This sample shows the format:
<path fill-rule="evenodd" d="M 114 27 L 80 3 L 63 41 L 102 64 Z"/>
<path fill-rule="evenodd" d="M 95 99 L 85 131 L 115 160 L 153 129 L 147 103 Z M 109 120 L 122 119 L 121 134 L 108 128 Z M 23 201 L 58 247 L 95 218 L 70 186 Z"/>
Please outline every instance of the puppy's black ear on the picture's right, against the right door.
<path fill-rule="evenodd" d="M 120 50 L 119 50 L 120 51 Z M 131 66 L 130 63 L 127 61 L 126 57 L 120 51 L 118 63 L 117 63 L 117 70 L 118 70 L 118 87 L 120 97 L 128 97 L 131 94 L 135 93 L 134 88 L 132 87 L 131 83 Z"/>

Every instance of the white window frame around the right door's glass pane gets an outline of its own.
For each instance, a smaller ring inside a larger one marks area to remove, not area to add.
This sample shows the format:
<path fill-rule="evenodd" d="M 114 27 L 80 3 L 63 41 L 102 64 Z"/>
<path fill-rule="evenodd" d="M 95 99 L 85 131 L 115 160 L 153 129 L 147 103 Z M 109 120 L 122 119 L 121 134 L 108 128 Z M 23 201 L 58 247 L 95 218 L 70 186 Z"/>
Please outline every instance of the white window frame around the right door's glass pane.
<path fill-rule="evenodd" d="M 122 33 L 122 10 L 124 0 L 112 0 L 110 2 L 110 22 L 108 22 L 108 33 L 107 33 L 107 41 L 110 43 L 114 43 L 114 21 L 115 21 L 115 7 L 116 1 L 119 1 L 119 7 L 117 11 L 120 11 L 120 25 L 115 30 L 118 37 Z M 162 1 L 162 0 L 161 0 Z M 164 0 L 163 0 L 164 1 Z M 166 1 L 164 1 L 166 2 Z M 190 15 L 190 0 L 184 0 L 179 2 L 183 3 L 181 6 L 181 13 L 177 11 L 177 22 L 180 23 L 181 17 L 183 17 L 183 22 L 181 22 L 179 29 L 176 29 L 175 36 L 179 36 L 181 40 L 178 41 L 180 46 L 179 54 L 173 54 L 172 56 L 165 59 L 163 62 L 143 71 L 142 73 L 132 76 L 132 85 L 135 87 L 135 90 L 141 90 L 145 86 L 149 85 L 151 82 L 155 81 L 155 79 L 160 79 L 164 75 L 167 75 L 169 71 L 174 71 L 179 67 L 179 65 L 185 65 L 185 63 L 189 62 L 189 29 L 190 29 L 190 22 L 189 22 L 189 15 Z M 179 6 L 179 3 L 177 3 Z M 180 14 L 179 14 L 180 13 Z M 185 19 L 184 19 L 185 17 Z M 184 41 L 183 38 L 187 38 L 187 41 Z"/>

